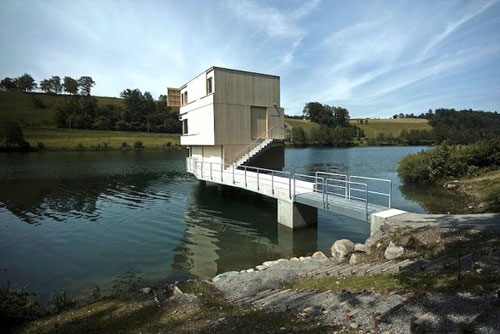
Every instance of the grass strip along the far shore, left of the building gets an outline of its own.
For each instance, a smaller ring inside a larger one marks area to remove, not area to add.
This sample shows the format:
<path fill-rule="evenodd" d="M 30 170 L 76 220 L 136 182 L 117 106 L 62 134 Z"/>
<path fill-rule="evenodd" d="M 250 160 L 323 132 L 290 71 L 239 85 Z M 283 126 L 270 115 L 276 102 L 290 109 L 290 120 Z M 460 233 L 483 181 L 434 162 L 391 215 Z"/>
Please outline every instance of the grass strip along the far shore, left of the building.
<path fill-rule="evenodd" d="M 68 130 L 50 128 L 26 128 L 23 130 L 24 139 L 32 147 L 43 143 L 46 150 L 96 150 L 133 148 L 136 141 L 141 141 L 146 149 L 159 149 L 166 146 L 179 145 L 178 134 L 147 133 L 127 131 L 99 131 L 99 130 Z M 80 145 L 81 144 L 81 145 Z"/>

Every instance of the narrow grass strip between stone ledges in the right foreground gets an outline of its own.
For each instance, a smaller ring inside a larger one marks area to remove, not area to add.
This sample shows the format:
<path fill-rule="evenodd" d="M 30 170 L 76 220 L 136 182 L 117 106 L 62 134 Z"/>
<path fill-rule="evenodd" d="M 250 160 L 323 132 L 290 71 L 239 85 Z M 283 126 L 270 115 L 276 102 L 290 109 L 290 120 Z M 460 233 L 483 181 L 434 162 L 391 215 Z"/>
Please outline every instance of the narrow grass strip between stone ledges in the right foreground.
<path fill-rule="evenodd" d="M 373 276 L 322 277 L 299 281 L 292 285 L 294 290 L 336 291 L 364 290 L 387 293 L 391 291 L 423 291 L 444 295 L 458 292 L 480 291 L 489 286 L 495 287 L 497 278 L 485 273 L 462 273 L 460 280 L 456 272 L 433 274 L 381 274 Z"/>

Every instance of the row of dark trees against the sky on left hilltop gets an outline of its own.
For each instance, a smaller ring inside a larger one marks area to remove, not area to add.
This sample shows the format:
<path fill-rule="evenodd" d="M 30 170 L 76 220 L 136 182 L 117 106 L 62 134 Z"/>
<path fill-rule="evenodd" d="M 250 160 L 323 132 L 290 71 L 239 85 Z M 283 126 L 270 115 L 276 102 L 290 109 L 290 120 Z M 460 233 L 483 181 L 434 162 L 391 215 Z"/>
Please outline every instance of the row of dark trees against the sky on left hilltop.
<path fill-rule="evenodd" d="M 39 88 L 41 91 L 49 94 L 66 92 L 72 95 L 79 93 L 86 96 L 90 95 L 90 91 L 94 86 L 95 81 L 90 76 L 81 76 L 79 79 L 65 76 L 61 80 L 61 77 L 54 75 L 41 80 L 40 84 L 37 84 L 30 74 L 24 73 L 20 77 L 5 77 L 0 81 L 0 90 L 3 91 L 32 92 Z"/>

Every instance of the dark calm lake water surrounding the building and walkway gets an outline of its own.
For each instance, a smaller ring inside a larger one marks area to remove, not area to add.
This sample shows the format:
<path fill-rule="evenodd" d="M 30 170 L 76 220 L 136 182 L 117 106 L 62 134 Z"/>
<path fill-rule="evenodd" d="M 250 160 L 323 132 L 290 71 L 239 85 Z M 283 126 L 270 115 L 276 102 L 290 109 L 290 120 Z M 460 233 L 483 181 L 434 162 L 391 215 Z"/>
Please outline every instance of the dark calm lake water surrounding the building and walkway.
<path fill-rule="evenodd" d="M 393 180 L 393 206 L 423 212 L 399 191 L 397 162 L 421 147 L 287 148 L 286 168 Z M 128 267 L 145 280 L 211 277 L 265 260 L 364 241 L 367 222 L 319 212 L 317 229 L 276 223 L 274 200 L 219 191 L 185 173 L 184 151 L 44 152 L 0 156 L 0 280 L 47 297 Z"/>

